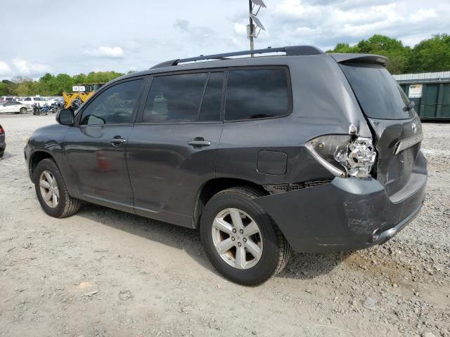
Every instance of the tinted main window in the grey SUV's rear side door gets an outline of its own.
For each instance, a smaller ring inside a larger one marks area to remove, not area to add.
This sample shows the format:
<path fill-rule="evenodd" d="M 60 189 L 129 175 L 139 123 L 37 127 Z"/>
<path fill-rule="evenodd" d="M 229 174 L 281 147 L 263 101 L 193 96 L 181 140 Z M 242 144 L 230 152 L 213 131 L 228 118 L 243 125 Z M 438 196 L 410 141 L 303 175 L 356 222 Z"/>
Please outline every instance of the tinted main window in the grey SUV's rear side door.
<path fill-rule="evenodd" d="M 206 72 L 155 77 L 150 86 L 142 121 L 144 123 L 198 121 L 207 78 Z"/>

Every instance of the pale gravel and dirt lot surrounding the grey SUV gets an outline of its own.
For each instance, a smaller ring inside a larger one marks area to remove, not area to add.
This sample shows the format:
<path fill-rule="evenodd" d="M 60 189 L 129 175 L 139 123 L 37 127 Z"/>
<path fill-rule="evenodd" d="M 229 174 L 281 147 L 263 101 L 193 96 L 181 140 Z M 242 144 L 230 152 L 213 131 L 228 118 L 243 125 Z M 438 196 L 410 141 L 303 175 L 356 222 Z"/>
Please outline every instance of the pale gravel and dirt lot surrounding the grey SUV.
<path fill-rule="evenodd" d="M 427 200 L 397 237 L 296 254 L 248 288 L 217 275 L 194 230 L 100 206 L 46 216 L 23 147 L 54 122 L 0 117 L 0 336 L 450 336 L 450 124 L 424 124 Z"/>

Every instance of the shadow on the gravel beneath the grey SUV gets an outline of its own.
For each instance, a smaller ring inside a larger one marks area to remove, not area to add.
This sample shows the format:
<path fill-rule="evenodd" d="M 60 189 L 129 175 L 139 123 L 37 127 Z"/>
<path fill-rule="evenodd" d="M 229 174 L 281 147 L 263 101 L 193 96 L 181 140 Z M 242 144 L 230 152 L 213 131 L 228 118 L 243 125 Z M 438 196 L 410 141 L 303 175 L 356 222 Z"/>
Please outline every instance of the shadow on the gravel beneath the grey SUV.
<path fill-rule="evenodd" d="M 131 213 L 116 211 L 115 209 L 94 204 L 86 204 L 80 209 L 77 215 L 117 230 L 138 235 L 153 242 L 184 250 L 200 266 L 212 270 L 216 275 L 219 275 L 202 249 L 198 230 L 136 216 Z M 319 275 L 327 274 L 350 255 L 351 252 L 293 253 L 293 257 L 290 259 L 288 265 L 277 277 L 314 279 Z"/>

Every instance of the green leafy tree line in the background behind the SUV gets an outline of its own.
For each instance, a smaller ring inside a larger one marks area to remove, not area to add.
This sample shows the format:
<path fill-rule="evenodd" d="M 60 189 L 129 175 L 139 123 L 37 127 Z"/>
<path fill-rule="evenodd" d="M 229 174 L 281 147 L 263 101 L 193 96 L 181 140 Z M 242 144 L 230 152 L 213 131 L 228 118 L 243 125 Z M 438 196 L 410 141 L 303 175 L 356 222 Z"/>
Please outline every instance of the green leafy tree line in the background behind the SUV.
<path fill-rule="evenodd" d="M 327 53 L 373 53 L 389 58 L 387 70 L 392 74 L 411 72 L 441 72 L 450 70 L 450 36 L 433 35 L 420 41 L 413 48 L 404 46 L 401 41 L 375 34 L 361 40 L 354 46 L 346 43 L 336 44 Z M 106 83 L 120 77 L 120 72 L 90 72 L 89 74 L 45 74 L 38 81 L 32 79 L 4 79 L 0 82 L 0 95 L 10 96 L 57 96 L 63 91 L 71 92 L 72 86 L 79 84 Z"/>

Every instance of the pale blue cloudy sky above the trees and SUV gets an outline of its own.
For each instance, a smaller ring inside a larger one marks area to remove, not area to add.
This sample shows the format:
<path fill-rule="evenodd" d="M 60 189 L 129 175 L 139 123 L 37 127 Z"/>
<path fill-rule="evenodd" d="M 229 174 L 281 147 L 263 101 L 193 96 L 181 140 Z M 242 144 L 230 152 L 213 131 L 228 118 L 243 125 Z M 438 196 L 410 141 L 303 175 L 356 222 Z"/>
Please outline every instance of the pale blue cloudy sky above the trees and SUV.
<path fill-rule="evenodd" d="M 450 32 L 450 0 L 264 0 L 255 48 L 324 51 L 385 34 L 414 46 Z M 11 15 L 10 15 L 11 13 Z M 249 49 L 247 0 L 1 0 L 0 79 L 146 70 Z"/>

